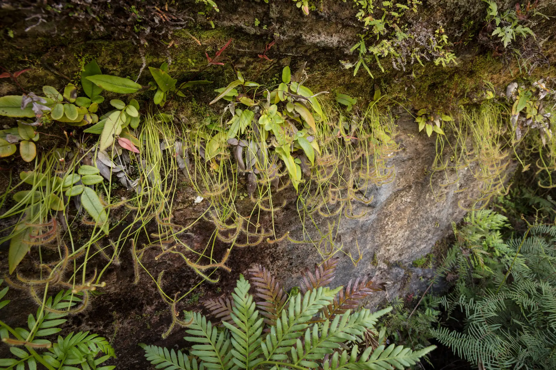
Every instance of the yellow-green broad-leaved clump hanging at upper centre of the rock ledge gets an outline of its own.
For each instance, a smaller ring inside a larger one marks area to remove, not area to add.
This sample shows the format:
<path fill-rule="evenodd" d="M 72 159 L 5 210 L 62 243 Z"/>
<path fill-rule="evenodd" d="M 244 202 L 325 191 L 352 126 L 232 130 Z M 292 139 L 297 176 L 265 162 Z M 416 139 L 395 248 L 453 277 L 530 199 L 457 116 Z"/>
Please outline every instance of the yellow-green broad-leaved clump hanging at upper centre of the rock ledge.
<path fill-rule="evenodd" d="M 318 130 L 316 123 L 322 120 L 323 115 L 316 94 L 300 83 L 303 74 L 304 70 L 301 69 L 292 76 L 290 67 L 286 66 L 282 71 L 282 82 L 269 91 L 256 82 L 245 81 L 238 72 L 237 80 L 225 88 L 217 89 L 219 95 L 211 104 L 220 99 L 229 100 L 231 104 L 226 110 L 232 116 L 225 124 L 207 125 L 208 129 L 217 131 L 212 136 L 203 131 L 192 132 L 192 135 L 206 141 L 206 149 L 202 154 L 205 160 L 214 160 L 226 144 L 231 144 L 235 147 L 237 169 L 259 173 L 276 162 L 273 159 L 276 155 L 284 161 L 297 189 L 302 175 L 299 155 L 304 155 L 313 164 L 315 152 L 320 153 L 315 135 Z M 237 87 L 243 89 L 241 96 Z M 259 89 L 264 91 L 257 92 Z M 257 98 L 261 100 L 257 101 Z M 239 104 L 244 109 L 236 108 Z M 255 115 L 259 118 L 255 119 Z M 245 161 L 244 147 L 247 148 Z"/>

